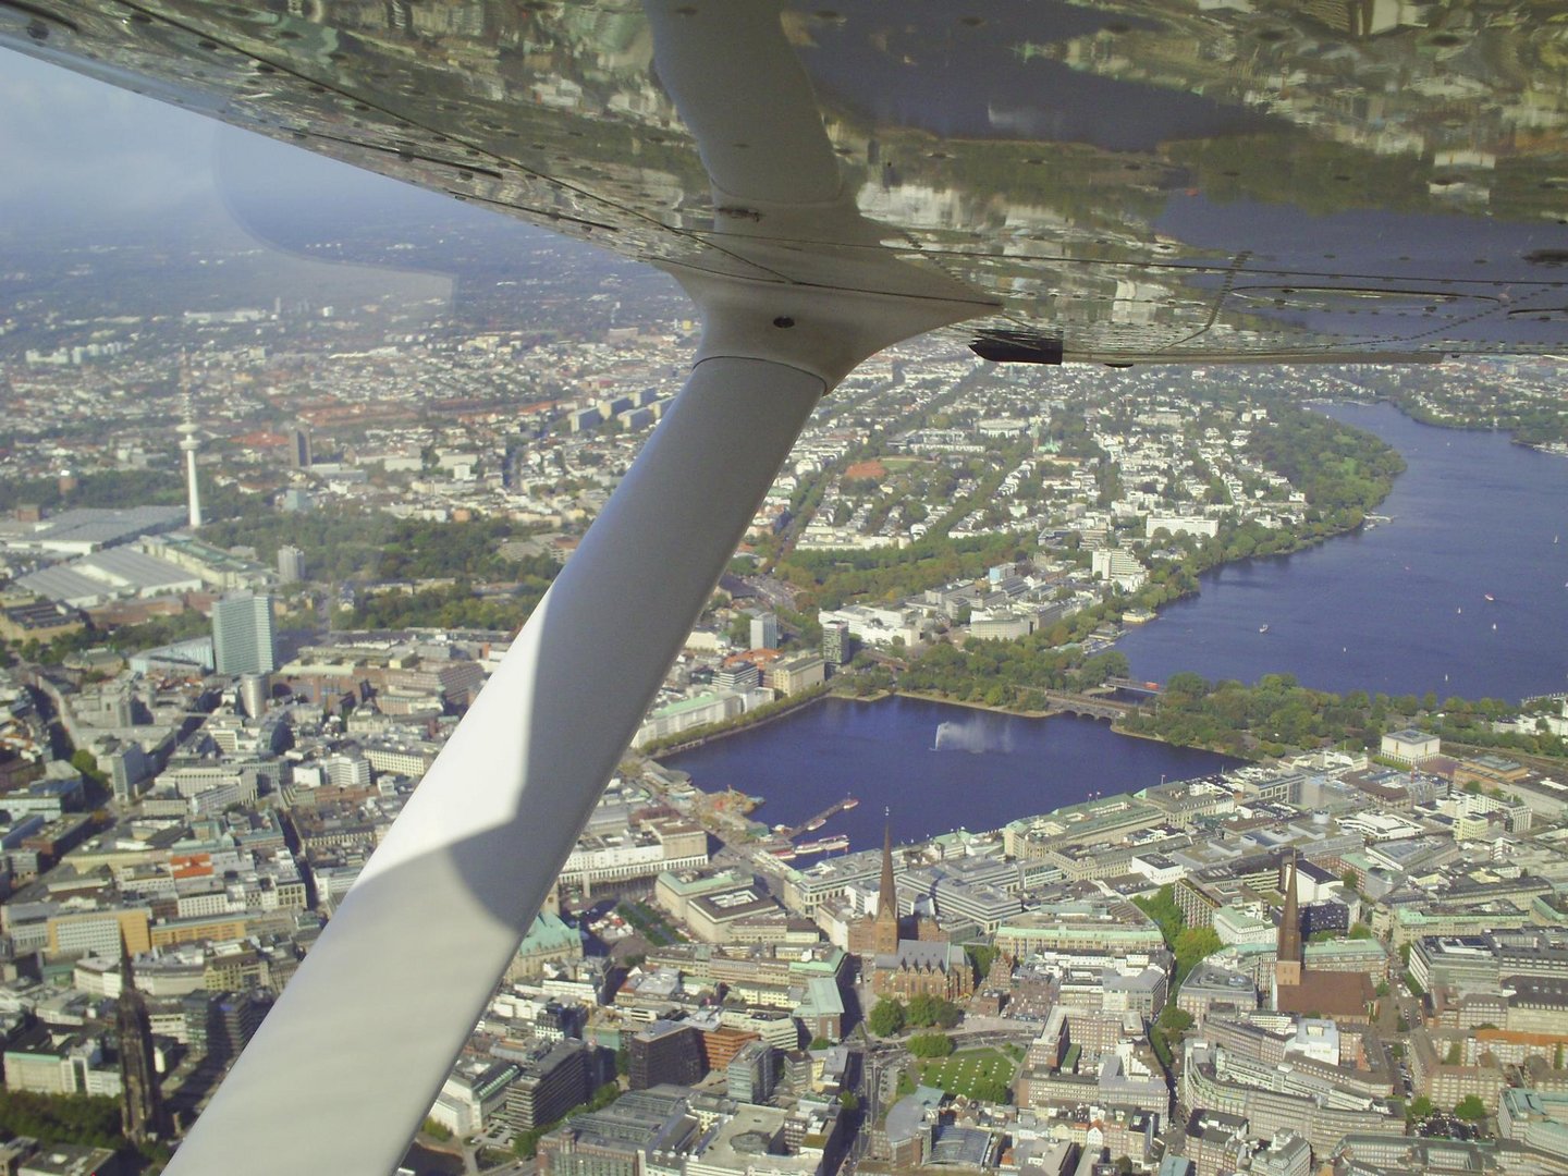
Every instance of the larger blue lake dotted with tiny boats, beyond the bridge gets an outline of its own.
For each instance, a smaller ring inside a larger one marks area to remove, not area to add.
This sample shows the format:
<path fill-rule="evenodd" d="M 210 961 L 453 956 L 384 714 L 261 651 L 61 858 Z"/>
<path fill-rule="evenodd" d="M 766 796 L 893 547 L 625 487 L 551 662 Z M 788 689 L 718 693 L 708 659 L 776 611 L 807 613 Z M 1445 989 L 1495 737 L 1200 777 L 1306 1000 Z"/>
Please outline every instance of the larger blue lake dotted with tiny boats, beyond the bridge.
<path fill-rule="evenodd" d="M 1327 411 L 1403 455 L 1378 506 L 1392 522 L 1207 572 L 1195 599 L 1118 641 L 1134 677 L 1286 671 L 1320 690 L 1439 699 L 1568 690 L 1568 459 L 1389 405 Z"/>

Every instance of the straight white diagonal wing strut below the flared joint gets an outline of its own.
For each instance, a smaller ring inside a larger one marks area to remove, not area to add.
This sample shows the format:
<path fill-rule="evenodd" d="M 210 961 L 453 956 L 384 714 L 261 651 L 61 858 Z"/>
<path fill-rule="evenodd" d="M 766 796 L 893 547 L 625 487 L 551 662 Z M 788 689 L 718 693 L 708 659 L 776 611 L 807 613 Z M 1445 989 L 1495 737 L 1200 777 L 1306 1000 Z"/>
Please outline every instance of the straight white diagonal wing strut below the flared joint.
<path fill-rule="evenodd" d="M 823 390 L 696 365 L 169 1173 L 397 1167 Z"/>

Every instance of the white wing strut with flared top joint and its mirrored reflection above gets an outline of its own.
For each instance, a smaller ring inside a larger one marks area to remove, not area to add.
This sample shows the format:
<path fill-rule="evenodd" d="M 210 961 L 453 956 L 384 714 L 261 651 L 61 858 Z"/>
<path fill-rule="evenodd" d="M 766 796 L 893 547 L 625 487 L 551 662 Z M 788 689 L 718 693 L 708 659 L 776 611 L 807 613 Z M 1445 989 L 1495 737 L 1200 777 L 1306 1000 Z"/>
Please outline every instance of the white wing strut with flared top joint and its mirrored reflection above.
<path fill-rule="evenodd" d="M 685 389 L 171 1176 L 392 1171 L 812 408 L 883 347 L 994 309 L 864 248 L 883 230 L 842 190 L 776 3 L 648 13 L 715 209 L 748 205 L 715 218 L 735 268 L 666 267 L 702 312 Z"/>

